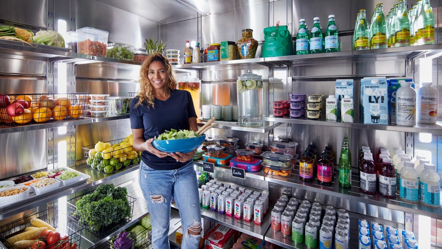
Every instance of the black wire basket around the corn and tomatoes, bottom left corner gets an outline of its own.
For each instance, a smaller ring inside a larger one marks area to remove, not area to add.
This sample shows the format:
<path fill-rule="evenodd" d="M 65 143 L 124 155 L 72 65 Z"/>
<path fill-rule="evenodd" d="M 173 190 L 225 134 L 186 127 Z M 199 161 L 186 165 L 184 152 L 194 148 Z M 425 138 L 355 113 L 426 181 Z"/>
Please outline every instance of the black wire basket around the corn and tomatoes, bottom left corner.
<path fill-rule="evenodd" d="M 82 228 L 76 226 L 75 224 L 67 222 L 68 216 L 55 207 L 50 207 L 46 210 L 34 213 L 32 215 L 20 218 L 4 226 L 1 226 L 0 241 L 4 244 L 4 246 L 6 246 L 6 248 L 14 249 L 14 247 L 9 244 L 7 239 L 16 234 L 22 233 L 25 228 L 32 226 L 30 224 L 31 218 L 41 219 L 42 221 L 53 226 L 55 230 L 60 233 L 61 239 L 51 245 L 47 245 L 47 248 L 80 248 L 80 232 Z M 65 236 L 67 236 L 67 238 L 64 238 Z M 71 246 L 69 246 L 68 243 Z"/>

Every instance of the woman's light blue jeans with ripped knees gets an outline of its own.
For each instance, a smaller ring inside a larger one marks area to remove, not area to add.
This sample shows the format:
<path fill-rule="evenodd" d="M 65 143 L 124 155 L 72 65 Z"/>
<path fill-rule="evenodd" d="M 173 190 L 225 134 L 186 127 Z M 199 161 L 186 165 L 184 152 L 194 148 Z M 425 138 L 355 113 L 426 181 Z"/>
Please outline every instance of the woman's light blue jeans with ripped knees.
<path fill-rule="evenodd" d="M 198 248 L 201 237 L 201 210 L 193 161 L 175 170 L 152 169 L 143 161 L 140 165 L 139 182 L 151 214 L 153 248 L 170 248 L 168 232 L 172 195 L 178 205 L 183 226 L 181 248 Z"/>

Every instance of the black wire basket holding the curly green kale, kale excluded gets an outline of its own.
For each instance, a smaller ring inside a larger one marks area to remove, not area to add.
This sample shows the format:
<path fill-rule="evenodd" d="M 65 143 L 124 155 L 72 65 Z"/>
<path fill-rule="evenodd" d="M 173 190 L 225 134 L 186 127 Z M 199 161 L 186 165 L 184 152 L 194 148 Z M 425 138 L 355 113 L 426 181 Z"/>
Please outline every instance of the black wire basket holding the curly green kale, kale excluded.
<path fill-rule="evenodd" d="M 91 194 L 91 193 L 92 192 L 89 192 L 88 194 Z M 81 198 L 83 198 L 83 196 L 84 195 L 76 196 L 76 197 L 69 199 L 67 201 L 68 208 L 69 208 L 69 217 L 72 219 L 72 222 L 74 224 L 83 227 L 84 229 L 88 230 L 91 234 L 94 234 L 96 237 L 99 237 L 99 238 L 101 238 L 103 235 L 110 234 L 114 230 L 117 230 L 118 228 L 129 223 L 130 220 L 132 219 L 132 215 L 133 215 L 133 204 L 137 200 L 129 195 L 126 195 L 127 201 L 129 202 L 129 206 L 130 206 L 129 215 L 125 218 L 120 219 L 117 222 L 113 222 L 109 225 L 106 225 L 104 223 L 104 221 L 101 220 L 100 218 L 98 218 L 94 215 L 88 214 L 87 212 L 85 212 L 83 210 L 77 209 L 76 202 L 78 200 L 80 200 Z M 118 217 L 118 211 L 117 210 L 113 211 L 112 214 L 108 215 L 108 217 L 111 220 L 115 220 Z M 89 223 L 85 222 L 84 219 L 88 219 L 89 221 L 94 222 L 99 227 L 91 226 Z"/>

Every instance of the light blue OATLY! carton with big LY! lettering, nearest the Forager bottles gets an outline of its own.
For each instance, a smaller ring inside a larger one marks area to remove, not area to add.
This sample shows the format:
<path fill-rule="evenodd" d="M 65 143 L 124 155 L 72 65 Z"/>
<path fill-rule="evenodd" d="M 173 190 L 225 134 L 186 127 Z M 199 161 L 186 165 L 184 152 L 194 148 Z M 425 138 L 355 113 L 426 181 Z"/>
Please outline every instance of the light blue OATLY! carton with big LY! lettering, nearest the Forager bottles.
<path fill-rule="evenodd" d="M 388 125 L 388 85 L 385 77 L 361 80 L 361 119 L 365 124 Z"/>

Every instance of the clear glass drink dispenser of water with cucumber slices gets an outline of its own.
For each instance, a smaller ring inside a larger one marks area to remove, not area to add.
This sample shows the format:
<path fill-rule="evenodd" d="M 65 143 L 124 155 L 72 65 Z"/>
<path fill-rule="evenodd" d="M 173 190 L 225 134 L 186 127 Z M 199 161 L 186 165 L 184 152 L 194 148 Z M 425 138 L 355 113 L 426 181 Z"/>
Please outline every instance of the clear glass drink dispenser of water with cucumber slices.
<path fill-rule="evenodd" d="M 238 100 L 238 125 L 263 126 L 264 124 L 264 93 L 261 75 L 247 73 L 236 80 Z"/>

